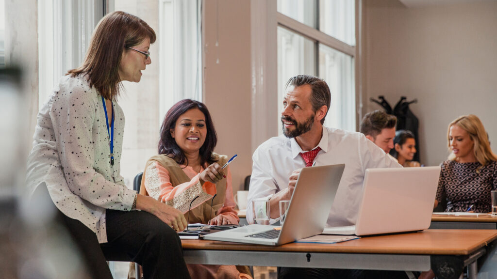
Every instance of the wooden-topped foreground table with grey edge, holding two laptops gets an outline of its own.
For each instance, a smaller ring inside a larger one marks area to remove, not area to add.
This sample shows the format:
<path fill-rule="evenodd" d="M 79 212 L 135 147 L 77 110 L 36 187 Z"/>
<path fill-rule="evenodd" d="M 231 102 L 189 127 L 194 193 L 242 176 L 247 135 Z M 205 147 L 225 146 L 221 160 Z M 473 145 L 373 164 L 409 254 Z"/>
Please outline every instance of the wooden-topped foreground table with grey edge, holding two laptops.
<path fill-rule="evenodd" d="M 456 279 L 497 239 L 493 230 L 426 230 L 362 237 L 336 244 L 289 243 L 278 247 L 208 240 L 182 240 L 188 264 L 427 271 Z"/>

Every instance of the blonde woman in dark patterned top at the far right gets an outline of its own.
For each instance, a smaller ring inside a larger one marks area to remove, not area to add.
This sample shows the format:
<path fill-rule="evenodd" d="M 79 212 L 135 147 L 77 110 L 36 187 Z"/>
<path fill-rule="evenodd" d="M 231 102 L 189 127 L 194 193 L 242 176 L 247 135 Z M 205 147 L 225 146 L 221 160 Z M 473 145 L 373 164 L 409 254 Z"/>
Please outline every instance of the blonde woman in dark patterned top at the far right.
<path fill-rule="evenodd" d="M 435 207 L 447 202 L 446 212 L 490 212 L 490 191 L 497 188 L 497 156 L 480 119 L 465 115 L 449 124 L 452 153 L 440 164 Z"/>

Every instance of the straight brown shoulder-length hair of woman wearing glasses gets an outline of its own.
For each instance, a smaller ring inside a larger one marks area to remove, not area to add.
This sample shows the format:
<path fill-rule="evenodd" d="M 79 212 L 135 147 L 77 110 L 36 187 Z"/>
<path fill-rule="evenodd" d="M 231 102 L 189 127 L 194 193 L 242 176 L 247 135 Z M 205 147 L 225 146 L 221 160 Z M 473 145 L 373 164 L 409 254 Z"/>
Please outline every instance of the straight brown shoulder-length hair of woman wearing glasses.
<path fill-rule="evenodd" d="M 156 41 L 154 30 L 145 21 L 127 12 L 111 12 L 95 27 L 83 65 L 67 74 L 87 74 L 90 86 L 104 98 L 115 99 L 121 85 L 118 70 L 123 51 L 147 38 L 151 44 Z"/>

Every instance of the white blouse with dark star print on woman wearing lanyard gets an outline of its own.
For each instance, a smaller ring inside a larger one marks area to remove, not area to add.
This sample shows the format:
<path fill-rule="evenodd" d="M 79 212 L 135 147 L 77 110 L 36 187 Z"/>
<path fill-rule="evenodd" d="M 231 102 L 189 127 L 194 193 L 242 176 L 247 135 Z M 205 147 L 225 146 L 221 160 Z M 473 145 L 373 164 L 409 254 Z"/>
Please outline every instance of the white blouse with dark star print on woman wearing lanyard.
<path fill-rule="evenodd" d="M 120 175 L 124 115 L 112 104 L 113 166 L 101 95 L 82 75 L 62 77 L 38 112 L 27 162 L 30 193 L 46 184 L 57 208 L 95 232 L 100 243 L 107 242 L 105 209 L 131 210 L 137 195 Z"/>

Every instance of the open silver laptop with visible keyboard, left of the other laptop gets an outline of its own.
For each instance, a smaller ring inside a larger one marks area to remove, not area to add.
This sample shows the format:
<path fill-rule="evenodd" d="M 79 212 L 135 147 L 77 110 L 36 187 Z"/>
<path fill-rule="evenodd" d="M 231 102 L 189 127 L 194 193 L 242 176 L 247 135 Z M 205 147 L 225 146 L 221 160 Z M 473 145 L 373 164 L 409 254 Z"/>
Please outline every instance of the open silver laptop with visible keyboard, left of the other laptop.
<path fill-rule="evenodd" d="M 320 234 L 328 220 L 344 168 L 345 164 L 303 168 L 281 230 L 279 226 L 253 224 L 206 234 L 204 239 L 282 245 Z M 272 238 L 266 238 L 265 235 L 273 233 Z"/>

